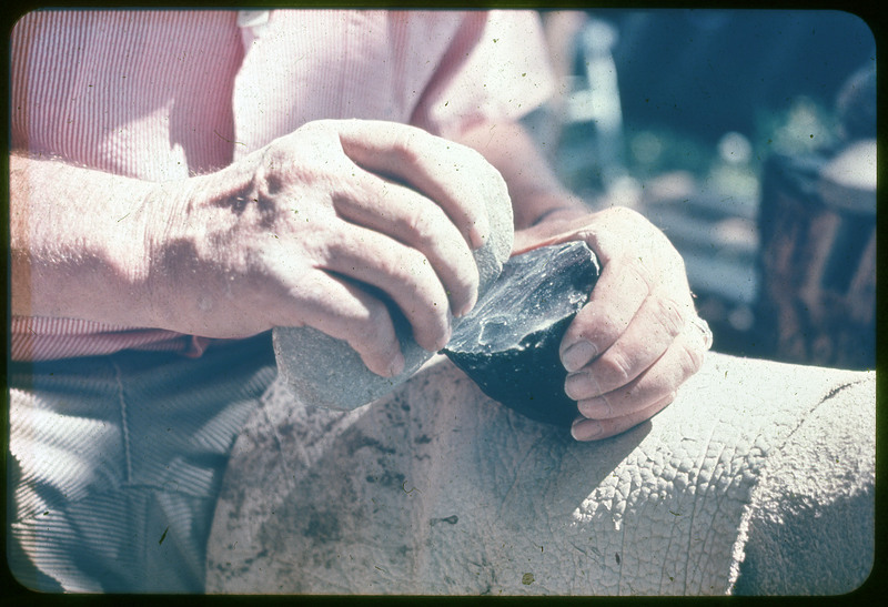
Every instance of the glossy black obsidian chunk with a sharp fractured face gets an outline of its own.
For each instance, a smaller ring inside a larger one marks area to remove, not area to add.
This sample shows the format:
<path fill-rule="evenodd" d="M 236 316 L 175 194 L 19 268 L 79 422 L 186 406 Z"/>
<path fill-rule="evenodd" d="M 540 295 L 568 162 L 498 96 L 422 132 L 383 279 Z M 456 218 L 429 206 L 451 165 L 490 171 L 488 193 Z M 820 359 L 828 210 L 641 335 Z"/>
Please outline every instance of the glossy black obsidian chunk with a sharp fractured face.
<path fill-rule="evenodd" d="M 532 419 L 569 426 L 577 408 L 564 393 L 567 372 L 558 346 L 599 271 L 582 242 L 509 259 L 472 313 L 455 324 L 443 352 L 494 401 Z"/>

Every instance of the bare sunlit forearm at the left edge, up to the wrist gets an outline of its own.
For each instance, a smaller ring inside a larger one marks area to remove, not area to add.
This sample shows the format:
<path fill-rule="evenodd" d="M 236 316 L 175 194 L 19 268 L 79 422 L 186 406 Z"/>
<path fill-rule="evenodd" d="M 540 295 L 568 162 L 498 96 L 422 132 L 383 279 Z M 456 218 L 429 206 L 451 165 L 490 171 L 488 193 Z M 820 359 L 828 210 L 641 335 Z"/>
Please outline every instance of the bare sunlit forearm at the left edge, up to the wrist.
<path fill-rule="evenodd" d="M 160 184 L 12 154 L 12 313 L 155 326 L 145 236 L 163 194 Z"/>

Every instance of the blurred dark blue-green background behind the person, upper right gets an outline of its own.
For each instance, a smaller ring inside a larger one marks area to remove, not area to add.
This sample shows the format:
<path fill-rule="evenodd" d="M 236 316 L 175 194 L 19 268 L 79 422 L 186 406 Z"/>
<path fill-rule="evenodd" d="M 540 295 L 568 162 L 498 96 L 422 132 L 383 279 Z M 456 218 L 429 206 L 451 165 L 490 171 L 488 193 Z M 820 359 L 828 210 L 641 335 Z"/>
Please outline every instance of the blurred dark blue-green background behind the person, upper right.
<path fill-rule="evenodd" d="M 683 254 L 720 352 L 875 368 L 876 43 L 840 11 L 541 11 L 527 119 L 594 208 Z"/>

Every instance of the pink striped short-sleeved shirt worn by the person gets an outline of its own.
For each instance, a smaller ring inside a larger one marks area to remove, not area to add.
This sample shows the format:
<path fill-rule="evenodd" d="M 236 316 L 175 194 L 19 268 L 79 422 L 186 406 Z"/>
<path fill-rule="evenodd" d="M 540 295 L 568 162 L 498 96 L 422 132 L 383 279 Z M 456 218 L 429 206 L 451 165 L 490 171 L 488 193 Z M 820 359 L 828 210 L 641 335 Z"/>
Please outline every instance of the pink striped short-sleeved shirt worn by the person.
<path fill-rule="evenodd" d="M 532 12 L 37 11 L 11 38 L 12 148 L 149 181 L 221 169 L 319 119 L 442 136 L 553 91 Z M 209 340 L 12 318 L 13 360 Z"/>

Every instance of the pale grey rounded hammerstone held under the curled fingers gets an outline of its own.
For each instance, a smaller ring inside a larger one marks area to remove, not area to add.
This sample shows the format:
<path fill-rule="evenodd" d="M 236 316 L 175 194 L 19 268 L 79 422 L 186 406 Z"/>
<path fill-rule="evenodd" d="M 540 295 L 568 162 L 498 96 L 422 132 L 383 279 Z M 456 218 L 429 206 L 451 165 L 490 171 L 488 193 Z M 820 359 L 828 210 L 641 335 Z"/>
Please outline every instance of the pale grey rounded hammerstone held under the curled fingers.
<path fill-rule="evenodd" d="M 505 181 L 494 170 L 491 170 L 490 179 L 474 180 L 466 185 L 481 190 L 491 226 L 487 241 L 474 252 L 481 297 L 500 275 L 512 252 L 512 202 Z M 382 377 L 371 372 L 345 341 L 313 327 L 274 328 L 278 371 L 295 401 L 305 405 L 353 409 L 389 394 L 410 378 L 435 353 L 416 344 L 400 311 L 392 310 L 392 320 L 406 363 L 404 371 L 395 377 Z"/>

